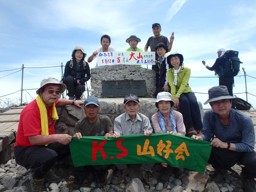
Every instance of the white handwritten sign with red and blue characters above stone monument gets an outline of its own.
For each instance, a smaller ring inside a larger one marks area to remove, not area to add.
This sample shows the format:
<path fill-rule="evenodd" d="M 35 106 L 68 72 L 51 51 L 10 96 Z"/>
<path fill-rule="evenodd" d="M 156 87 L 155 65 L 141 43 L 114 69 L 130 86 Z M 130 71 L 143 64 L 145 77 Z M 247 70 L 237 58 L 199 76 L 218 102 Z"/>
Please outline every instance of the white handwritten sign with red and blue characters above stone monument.
<path fill-rule="evenodd" d="M 155 65 L 155 52 L 101 52 L 96 57 L 98 66 L 117 64 Z"/>

